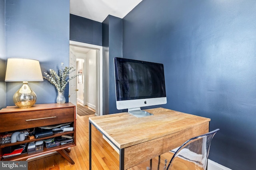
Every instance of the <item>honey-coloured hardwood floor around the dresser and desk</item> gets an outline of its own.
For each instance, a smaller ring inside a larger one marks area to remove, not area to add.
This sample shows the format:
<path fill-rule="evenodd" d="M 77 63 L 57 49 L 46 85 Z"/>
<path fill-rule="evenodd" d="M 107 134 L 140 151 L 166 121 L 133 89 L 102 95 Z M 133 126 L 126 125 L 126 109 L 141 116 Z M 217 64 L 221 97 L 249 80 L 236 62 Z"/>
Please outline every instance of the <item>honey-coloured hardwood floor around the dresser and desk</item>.
<path fill-rule="evenodd" d="M 88 144 L 88 116 L 77 116 L 76 120 L 76 146 L 71 148 L 70 157 L 75 164 L 70 164 L 60 154 L 30 160 L 28 170 L 88 170 L 89 169 L 89 144 Z M 164 167 L 164 158 L 170 160 L 170 153 L 161 156 L 160 170 Z M 158 157 L 153 159 L 153 168 L 156 170 Z M 144 162 L 130 170 L 146 170 L 149 161 Z M 102 138 L 101 133 L 92 126 L 92 170 L 118 170 L 119 154 Z"/>

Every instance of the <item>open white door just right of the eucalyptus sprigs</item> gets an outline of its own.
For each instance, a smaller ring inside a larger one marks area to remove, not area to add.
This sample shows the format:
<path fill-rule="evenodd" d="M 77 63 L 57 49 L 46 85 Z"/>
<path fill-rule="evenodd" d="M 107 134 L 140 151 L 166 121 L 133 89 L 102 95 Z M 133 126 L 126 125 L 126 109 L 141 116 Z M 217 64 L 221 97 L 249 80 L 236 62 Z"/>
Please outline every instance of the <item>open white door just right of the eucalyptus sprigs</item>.
<path fill-rule="evenodd" d="M 69 66 L 76 69 L 76 53 L 72 51 L 72 49 L 69 49 Z M 69 74 L 69 77 L 72 77 L 77 74 L 77 70 L 73 71 Z M 71 102 L 72 104 L 76 105 L 76 78 L 73 78 L 69 82 L 69 98 L 68 102 Z"/>

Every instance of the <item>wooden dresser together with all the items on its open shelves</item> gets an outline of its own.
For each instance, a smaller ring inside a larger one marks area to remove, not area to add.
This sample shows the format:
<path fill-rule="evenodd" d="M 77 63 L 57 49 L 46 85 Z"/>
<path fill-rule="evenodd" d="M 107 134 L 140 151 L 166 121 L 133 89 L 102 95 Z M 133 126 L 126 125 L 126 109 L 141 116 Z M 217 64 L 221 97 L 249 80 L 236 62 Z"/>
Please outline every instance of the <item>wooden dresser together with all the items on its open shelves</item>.
<path fill-rule="evenodd" d="M 66 152 L 76 146 L 76 106 L 72 103 L 7 106 L 0 109 L 0 120 L 0 161 L 56 151 L 74 164 Z"/>

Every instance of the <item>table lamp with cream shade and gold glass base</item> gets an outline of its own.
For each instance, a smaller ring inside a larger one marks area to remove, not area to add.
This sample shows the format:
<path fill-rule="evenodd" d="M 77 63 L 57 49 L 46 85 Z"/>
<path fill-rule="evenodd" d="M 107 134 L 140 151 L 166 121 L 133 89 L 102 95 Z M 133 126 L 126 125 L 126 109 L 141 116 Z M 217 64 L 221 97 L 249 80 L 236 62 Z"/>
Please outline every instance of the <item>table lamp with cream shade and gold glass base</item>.
<path fill-rule="evenodd" d="M 36 103 L 36 94 L 28 82 L 43 81 L 39 61 L 33 59 L 9 58 L 6 66 L 6 82 L 23 82 L 22 87 L 13 95 L 13 102 L 20 108 L 31 107 Z"/>

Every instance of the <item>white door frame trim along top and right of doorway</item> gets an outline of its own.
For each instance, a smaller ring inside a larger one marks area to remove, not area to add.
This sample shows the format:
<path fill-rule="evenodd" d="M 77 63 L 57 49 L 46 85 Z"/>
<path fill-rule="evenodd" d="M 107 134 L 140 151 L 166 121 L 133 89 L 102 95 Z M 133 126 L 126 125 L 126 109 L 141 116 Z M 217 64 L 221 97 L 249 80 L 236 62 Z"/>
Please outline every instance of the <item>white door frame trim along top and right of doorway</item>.
<path fill-rule="evenodd" d="M 69 41 L 69 44 L 77 47 L 84 47 L 96 50 L 96 115 L 103 115 L 103 50 L 102 46 L 92 45 L 88 43 L 81 43 L 77 41 Z"/>

